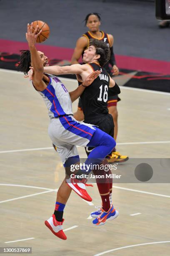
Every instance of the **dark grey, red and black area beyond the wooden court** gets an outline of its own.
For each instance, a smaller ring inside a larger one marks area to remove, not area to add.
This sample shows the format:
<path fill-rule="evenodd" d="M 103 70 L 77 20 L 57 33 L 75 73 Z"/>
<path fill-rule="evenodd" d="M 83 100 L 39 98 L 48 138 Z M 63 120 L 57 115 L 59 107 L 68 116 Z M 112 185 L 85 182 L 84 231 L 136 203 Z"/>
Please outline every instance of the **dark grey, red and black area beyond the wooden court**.
<path fill-rule="evenodd" d="M 37 49 L 51 65 L 70 64 L 93 12 L 101 14 L 101 30 L 114 36 L 120 75 L 136 71 L 122 85 L 170 92 L 170 27 L 160 28 L 153 0 L 0 0 L 0 68 L 16 69 L 19 50 L 28 49 L 27 23 L 34 20 L 50 26 L 50 37 Z"/>

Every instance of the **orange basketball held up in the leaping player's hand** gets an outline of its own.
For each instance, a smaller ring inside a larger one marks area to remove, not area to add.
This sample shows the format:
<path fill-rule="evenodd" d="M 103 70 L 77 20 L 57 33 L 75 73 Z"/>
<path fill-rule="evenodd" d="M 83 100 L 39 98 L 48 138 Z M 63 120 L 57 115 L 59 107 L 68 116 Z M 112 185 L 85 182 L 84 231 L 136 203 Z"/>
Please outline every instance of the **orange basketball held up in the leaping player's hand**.
<path fill-rule="evenodd" d="M 34 32 L 37 25 L 38 25 L 37 33 L 40 30 L 42 30 L 42 32 L 40 33 L 40 36 L 37 37 L 37 43 L 42 43 L 50 36 L 50 28 L 47 25 L 47 23 L 45 23 L 44 21 L 35 20 L 32 25 L 32 32 Z"/>

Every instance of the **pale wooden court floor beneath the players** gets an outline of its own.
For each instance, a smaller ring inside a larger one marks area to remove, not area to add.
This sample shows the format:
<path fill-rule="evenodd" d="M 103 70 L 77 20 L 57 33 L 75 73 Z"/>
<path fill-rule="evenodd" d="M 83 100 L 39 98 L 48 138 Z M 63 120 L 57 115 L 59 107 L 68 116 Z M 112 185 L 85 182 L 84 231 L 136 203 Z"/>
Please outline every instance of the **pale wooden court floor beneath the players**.
<path fill-rule="evenodd" d="M 62 82 L 69 91 L 77 86 Z M 55 237 L 44 221 L 54 211 L 64 169 L 47 134 L 47 109 L 20 73 L 1 69 L 0 89 L 0 247 L 32 247 L 37 256 L 170 255 L 169 184 L 114 183 L 119 216 L 100 227 L 90 219 L 101 203 L 97 186 L 87 188 L 92 203 L 72 192 L 64 212 L 67 240 Z M 170 94 L 122 87 L 120 97 L 117 151 L 170 158 Z M 78 151 L 85 157 L 84 148 Z"/>

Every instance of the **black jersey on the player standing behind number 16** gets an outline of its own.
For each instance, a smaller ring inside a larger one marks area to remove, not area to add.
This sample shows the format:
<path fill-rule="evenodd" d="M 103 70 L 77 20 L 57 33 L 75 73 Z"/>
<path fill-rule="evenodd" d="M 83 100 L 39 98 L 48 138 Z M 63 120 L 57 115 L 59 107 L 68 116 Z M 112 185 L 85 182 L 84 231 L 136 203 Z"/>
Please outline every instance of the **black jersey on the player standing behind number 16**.
<path fill-rule="evenodd" d="M 100 31 L 100 32 L 102 33 L 102 37 L 101 38 L 97 38 L 97 37 L 92 36 L 90 31 L 87 31 L 85 34 L 82 35 L 82 36 L 85 36 L 87 38 L 87 41 L 88 41 L 87 47 L 85 49 L 87 49 L 89 47 L 90 39 L 92 39 L 92 38 L 95 38 L 97 40 L 102 40 L 102 41 L 104 41 L 110 47 L 110 39 L 109 39 L 108 34 L 103 32 L 103 31 Z M 83 57 L 85 49 L 82 52 L 82 57 Z M 104 68 L 110 74 L 109 61 L 105 64 Z"/>

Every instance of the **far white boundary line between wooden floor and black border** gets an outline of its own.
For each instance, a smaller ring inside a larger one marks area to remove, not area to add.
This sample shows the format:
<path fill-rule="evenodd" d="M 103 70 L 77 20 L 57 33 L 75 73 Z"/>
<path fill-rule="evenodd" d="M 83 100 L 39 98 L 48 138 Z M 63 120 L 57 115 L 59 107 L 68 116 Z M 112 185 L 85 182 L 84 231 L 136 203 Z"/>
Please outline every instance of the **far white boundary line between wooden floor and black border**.
<path fill-rule="evenodd" d="M 15 70 L 10 70 L 10 69 L 0 69 L 0 71 L 2 72 L 10 72 L 13 74 L 22 74 L 22 72 L 18 72 Z M 76 79 L 72 79 L 72 78 L 65 78 L 65 77 L 59 77 L 59 79 L 65 79 L 65 81 L 68 82 L 77 82 Z M 127 86 L 120 86 L 120 89 L 127 89 L 127 90 L 134 90 L 134 91 L 139 91 L 139 92 L 152 92 L 152 93 L 157 93 L 157 94 L 163 94 L 163 95 L 170 95 L 170 92 L 160 92 L 160 91 L 155 91 L 155 90 L 147 90 L 147 89 L 139 89 L 139 88 L 135 88 L 135 87 L 127 87 Z"/>

